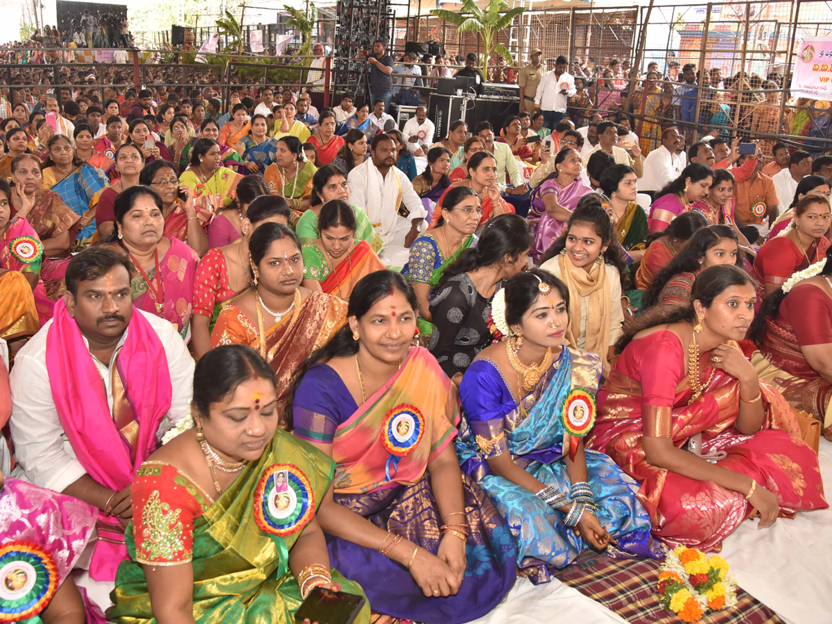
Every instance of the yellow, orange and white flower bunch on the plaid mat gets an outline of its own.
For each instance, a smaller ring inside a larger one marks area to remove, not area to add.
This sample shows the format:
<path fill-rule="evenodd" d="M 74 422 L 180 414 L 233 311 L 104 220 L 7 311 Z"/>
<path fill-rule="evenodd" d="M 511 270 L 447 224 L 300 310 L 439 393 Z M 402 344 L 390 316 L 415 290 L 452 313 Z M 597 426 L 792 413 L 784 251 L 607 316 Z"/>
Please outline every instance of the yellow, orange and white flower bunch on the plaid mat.
<path fill-rule="evenodd" d="M 683 622 L 699 622 L 710 609 L 736 605 L 736 581 L 722 557 L 706 557 L 696 548 L 667 552 L 659 574 L 661 604 Z"/>

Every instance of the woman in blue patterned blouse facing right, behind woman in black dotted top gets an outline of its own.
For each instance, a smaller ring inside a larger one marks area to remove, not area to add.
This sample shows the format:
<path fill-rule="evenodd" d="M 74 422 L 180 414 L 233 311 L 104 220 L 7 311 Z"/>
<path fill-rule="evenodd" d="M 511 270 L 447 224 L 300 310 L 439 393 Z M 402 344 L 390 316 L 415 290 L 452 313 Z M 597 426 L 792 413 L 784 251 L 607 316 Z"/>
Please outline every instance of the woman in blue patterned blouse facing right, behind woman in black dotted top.
<path fill-rule="evenodd" d="M 442 203 L 442 216 L 437 227 L 419 235 L 410 245 L 409 262 L 404 265 L 402 274 L 414 287 L 419 314 L 416 324 L 419 334 L 426 339 L 433 333 L 428 309 L 430 291 L 459 254 L 476 243 L 474 232 L 482 216 L 477 193 L 468 186 L 454 187 Z"/>

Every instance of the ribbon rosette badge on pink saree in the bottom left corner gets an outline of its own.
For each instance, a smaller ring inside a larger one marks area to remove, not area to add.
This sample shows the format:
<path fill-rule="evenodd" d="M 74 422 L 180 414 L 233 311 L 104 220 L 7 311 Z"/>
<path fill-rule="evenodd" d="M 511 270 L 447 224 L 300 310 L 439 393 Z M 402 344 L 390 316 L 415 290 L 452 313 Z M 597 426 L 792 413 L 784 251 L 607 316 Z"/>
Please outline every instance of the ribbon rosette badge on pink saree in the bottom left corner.
<path fill-rule="evenodd" d="M 9 542 L 0 547 L 0 622 L 37 616 L 57 591 L 57 567 L 37 544 Z"/>

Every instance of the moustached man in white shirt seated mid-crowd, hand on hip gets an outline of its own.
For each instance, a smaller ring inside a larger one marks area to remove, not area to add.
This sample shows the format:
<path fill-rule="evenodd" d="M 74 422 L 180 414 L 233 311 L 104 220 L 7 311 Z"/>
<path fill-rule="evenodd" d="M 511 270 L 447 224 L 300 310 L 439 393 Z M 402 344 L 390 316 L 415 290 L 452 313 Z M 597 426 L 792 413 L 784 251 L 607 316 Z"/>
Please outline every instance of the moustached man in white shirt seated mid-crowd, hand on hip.
<path fill-rule="evenodd" d="M 383 260 L 392 264 L 390 254 L 398 248 L 399 256 L 402 251 L 406 255 L 405 248 L 416 240 L 428 211 L 408 176 L 395 166 L 396 146 L 391 136 L 374 136 L 370 156 L 347 176 L 349 201 L 367 210 L 370 223 L 384 240 Z M 399 215 L 402 204 L 408 210 L 406 218 Z"/>

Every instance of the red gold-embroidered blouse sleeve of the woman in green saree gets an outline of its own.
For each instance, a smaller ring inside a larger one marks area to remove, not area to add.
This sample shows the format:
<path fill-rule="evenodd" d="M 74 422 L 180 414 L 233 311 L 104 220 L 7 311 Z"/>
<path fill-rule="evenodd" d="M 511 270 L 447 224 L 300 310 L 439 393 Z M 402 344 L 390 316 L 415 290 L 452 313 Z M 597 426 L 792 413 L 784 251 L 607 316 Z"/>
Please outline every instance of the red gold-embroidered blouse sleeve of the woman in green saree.
<path fill-rule="evenodd" d="M 136 562 L 175 566 L 193 559 L 194 519 L 214 503 L 186 473 L 145 462 L 133 482 Z"/>

